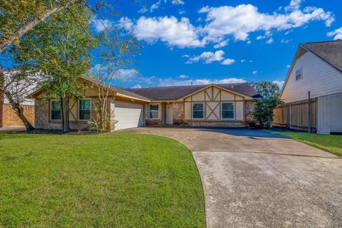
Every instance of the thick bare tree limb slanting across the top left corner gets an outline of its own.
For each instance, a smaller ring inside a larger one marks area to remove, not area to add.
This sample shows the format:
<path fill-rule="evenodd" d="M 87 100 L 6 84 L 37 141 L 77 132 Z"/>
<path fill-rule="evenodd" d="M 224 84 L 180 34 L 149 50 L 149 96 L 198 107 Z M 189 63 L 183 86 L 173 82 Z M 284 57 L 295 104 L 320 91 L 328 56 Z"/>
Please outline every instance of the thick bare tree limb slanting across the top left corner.
<path fill-rule="evenodd" d="M 16 41 L 16 39 L 18 39 L 21 36 L 23 36 L 26 32 L 30 31 L 37 24 L 45 21 L 45 19 L 48 18 L 48 16 L 51 16 L 52 14 L 56 14 L 59 11 L 62 11 L 63 9 L 67 9 L 72 4 L 76 4 L 78 2 L 81 2 L 81 0 L 69 0 L 69 1 L 66 1 L 65 3 L 61 4 L 60 6 L 56 6 L 53 9 L 50 9 L 50 10 L 46 11 L 46 13 L 44 13 L 41 16 L 38 16 L 33 21 L 28 22 L 28 24 L 24 25 L 22 28 L 20 28 L 17 31 L 15 31 L 12 36 L 10 36 L 9 38 L 6 38 L 6 39 L 4 39 L 3 41 L 0 42 L 0 51 L 4 51 L 7 48 L 7 46 L 9 46 L 11 43 Z"/>

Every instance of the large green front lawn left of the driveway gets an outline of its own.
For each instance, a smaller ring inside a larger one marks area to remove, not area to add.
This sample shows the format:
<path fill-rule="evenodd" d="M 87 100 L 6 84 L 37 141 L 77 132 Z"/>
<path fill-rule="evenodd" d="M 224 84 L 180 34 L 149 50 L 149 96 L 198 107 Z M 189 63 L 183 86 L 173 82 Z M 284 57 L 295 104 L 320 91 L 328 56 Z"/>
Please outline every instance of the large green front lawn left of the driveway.
<path fill-rule="evenodd" d="M 190 150 L 136 133 L 0 133 L 0 227 L 205 227 Z"/>

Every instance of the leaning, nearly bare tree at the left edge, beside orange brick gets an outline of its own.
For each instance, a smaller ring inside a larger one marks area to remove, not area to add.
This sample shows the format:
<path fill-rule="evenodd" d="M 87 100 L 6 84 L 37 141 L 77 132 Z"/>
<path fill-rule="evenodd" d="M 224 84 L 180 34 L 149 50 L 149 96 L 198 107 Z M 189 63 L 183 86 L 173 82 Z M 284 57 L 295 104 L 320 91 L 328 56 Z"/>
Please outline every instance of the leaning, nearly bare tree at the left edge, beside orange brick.
<path fill-rule="evenodd" d="M 0 94 L 4 94 L 9 100 L 12 109 L 24 123 L 26 130 L 33 130 L 33 125 L 26 119 L 22 103 L 26 100 L 26 95 L 36 90 L 36 85 L 41 83 L 42 77 L 29 74 L 28 76 L 21 71 L 11 71 L 0 69 Z"/>

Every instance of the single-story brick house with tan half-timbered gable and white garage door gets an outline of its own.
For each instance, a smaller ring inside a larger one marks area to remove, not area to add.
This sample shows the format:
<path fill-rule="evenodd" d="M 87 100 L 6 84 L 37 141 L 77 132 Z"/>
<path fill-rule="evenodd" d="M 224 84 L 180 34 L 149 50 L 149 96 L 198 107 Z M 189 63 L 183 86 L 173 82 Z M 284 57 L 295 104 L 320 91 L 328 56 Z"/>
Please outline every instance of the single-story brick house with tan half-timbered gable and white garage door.
<path fill-rule="evenodd" d="M 84 98 L 71 102 L 71 128 L 86 129 L 95 115 L 98 88 L 81 79 Z M 60 101 L 43 100 L 43 90 L 29 96 L 35 102 L 36 128 L 61 129 Z M 260 95 L 249 83 L 110 88 L 110 130 L 145 125 L 244 127 L 253 122 L 252 100 Z"/>

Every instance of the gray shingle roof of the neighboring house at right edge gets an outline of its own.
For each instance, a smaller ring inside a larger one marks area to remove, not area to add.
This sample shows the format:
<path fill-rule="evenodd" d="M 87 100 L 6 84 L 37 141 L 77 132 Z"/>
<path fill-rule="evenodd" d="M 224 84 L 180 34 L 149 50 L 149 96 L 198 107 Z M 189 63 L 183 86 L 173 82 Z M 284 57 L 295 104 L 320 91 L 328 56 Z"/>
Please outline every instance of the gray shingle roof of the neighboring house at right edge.
<path fill-rule="evenodd" d="M 342 72 L 342 41 L 302 43 L 301 46 Z"/>

